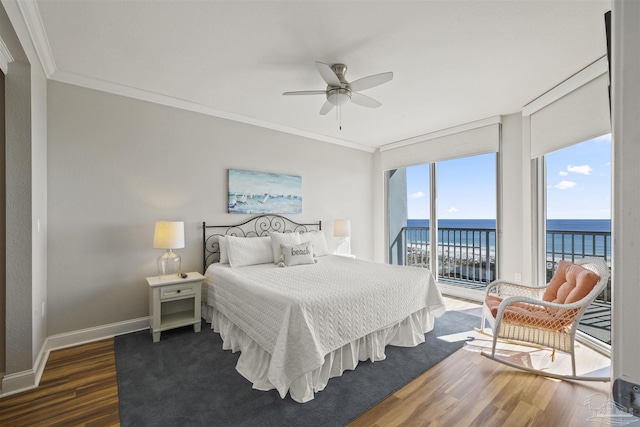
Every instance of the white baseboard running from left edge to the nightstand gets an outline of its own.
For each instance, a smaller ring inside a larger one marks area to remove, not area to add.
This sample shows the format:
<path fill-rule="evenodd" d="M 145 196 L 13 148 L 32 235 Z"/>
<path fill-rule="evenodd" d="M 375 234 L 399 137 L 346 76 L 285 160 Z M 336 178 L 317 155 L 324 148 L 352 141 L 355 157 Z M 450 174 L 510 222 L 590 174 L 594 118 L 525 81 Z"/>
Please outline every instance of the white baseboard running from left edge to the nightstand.
<path fill-rule="evenodd" d="M 36 388 L 40 384 L 40 378 L 47 364 L 49 353 L 62 348 L 74 347 L 93 341 L 112 338 L 116 335 L 128 334 L 149 328 L 149 317 L 126 320 L 124 322 L 110 323 L 108 325 L 96 326 L 94 328 L 81 329 L 78 331 L 66 332 L 64 334 L 47 337 L 38 352 L 38 356 L 32 369 L 4 374 L 2 376 L 2 389 L 0 397 L 9 396 L 23 391 Z"/>

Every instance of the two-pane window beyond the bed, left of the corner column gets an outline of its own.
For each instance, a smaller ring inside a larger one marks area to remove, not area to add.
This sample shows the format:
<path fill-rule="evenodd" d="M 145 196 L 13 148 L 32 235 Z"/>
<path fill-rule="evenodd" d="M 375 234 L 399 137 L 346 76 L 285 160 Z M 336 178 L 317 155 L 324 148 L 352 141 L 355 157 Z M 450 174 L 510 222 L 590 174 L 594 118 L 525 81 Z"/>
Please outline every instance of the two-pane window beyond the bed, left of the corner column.
<path fill-rule="evenodd" d="M 387 177 L 391 263 L 430 268 L 468 289 L 496 278 L 495 153 L 395 169 Z"/>

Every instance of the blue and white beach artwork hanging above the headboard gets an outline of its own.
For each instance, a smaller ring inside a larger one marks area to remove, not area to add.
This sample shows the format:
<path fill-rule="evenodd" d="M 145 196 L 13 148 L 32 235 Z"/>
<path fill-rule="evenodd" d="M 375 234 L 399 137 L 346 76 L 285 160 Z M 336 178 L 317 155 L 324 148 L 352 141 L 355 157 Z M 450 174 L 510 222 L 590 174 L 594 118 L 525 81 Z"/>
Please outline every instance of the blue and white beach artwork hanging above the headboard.
<path fill-rule="evenodd" d="M 229 213 L 302 213 L 302 177 L 229 169 Z"/>

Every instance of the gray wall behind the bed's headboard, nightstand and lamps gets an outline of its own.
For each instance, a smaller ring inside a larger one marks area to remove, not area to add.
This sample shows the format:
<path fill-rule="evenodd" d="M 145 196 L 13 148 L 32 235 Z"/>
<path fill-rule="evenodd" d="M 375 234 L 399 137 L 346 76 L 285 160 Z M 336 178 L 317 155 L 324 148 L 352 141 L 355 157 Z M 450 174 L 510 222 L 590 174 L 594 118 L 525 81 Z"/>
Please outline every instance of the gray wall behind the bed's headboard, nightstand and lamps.
<path fill-rule="evenodd" d="M 201 223 L 227 210 L 227 170 L 302 176 L 303 213 L 351 219 L 352 252 L 373 258 L 371 153 L 48 82 L 48 331 L 148 315 L 157 220 L 185 221 L 184 270 L 201 270 Z"/>

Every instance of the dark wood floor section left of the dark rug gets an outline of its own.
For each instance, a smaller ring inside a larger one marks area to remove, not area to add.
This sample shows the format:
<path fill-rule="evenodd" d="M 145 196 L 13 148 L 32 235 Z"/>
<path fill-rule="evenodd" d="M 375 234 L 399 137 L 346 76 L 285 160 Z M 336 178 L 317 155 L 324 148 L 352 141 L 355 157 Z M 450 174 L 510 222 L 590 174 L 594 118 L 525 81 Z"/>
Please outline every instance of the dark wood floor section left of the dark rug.
<path fill-rule="evenodd" d="M 0 426 L 119 426 L 113 339 L 52 351 L 40 385 L 0 399 Z"/>

